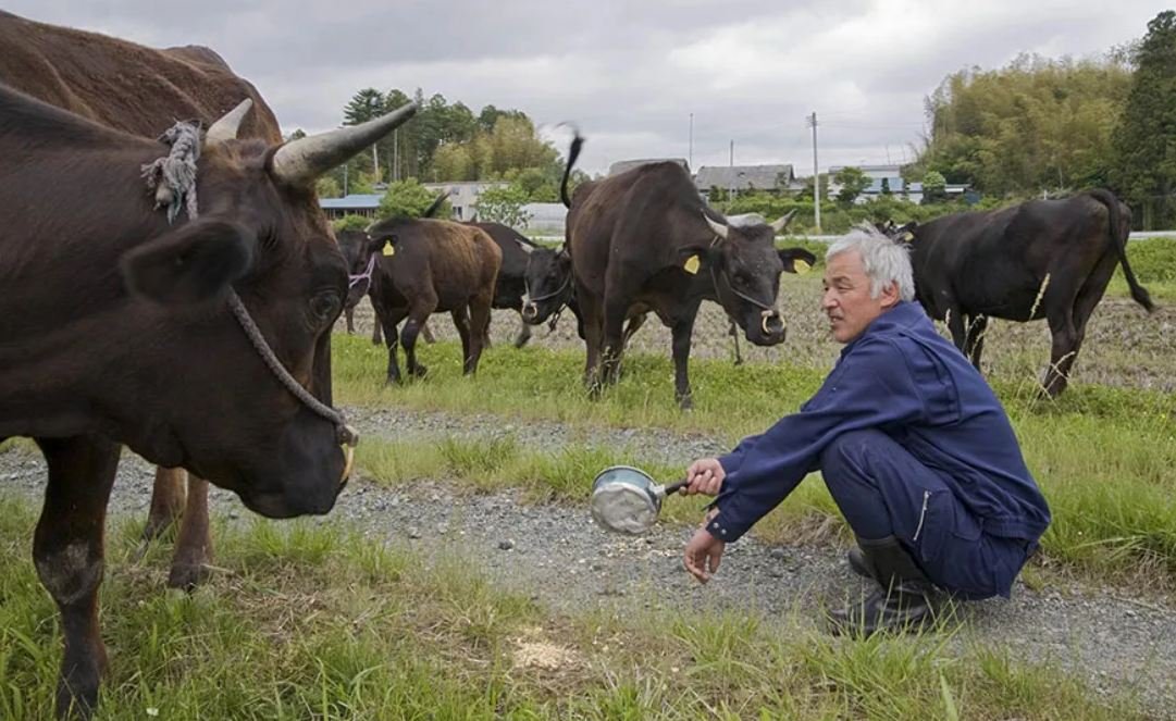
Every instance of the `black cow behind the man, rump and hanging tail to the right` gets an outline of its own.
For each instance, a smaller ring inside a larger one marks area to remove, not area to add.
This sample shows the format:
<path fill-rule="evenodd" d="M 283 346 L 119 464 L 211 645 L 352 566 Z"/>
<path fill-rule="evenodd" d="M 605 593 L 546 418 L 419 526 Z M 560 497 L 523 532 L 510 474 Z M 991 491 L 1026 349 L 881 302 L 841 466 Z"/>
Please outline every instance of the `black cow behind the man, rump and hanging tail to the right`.
<path fill-rule="evenodd" d="M 1131 211 L 1108 191 L 954 213 L 891 233 L 909 235 L 915 291 L 980 368 L 989 318 L 1047 319 L 1053 334 L 1043 390 L 1065 389 L 1087 321 L 1115 273 L 1149 312 L 1151 298 L 1127 262 Z"/>

